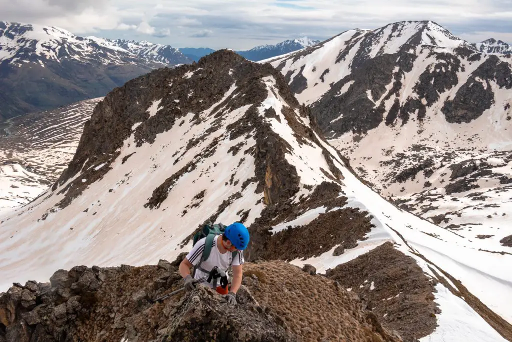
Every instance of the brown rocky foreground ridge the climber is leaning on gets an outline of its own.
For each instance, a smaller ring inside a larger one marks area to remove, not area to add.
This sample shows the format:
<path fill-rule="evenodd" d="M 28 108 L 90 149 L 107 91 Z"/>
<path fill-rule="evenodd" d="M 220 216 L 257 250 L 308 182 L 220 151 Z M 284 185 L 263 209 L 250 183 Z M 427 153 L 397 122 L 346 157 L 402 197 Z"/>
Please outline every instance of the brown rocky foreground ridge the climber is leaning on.
<path fill-rule="evenodd" d="M 205 287 L 152 304 L 150 299 L 183 285 L 177 262 L 160 260 L 159 266 L 78 266 L 69 272 L 59 270 L 52 276 L 52 283 L 17 284 L 0 297 L 0 340 L 291 342 L 324 336 L 329 340 L 350 337 L 354 341 L 398 341 L 380 326 L 374 315 L 361 309 L 357 296 L 325 277 L 308 275 L 283 262 L 246 264 L 244 269 L 252 275 L 244 278 L 247 288 L 242 286 L 238 291 L 236 306 Z M 277 279 L 283 275 L 294 280 L 286 284 L 293 291 L 289 293 L 301 293 L 285 295 L 286 300 L 303 306 L 304 310 L 321 310 L 309 303 L 314 299 L 307 295 L 318 292 L 325 302 L 322 310 L 328 310 L 324 314 L 337 317 L 333 325 L 317 330 L 320 326 L 314 319 L 320 316 L 316 315 L 309 316 L 306 325 L 298 324 L 298 320 L 283 312 L 283 307 L 276 306 L 281 301 L 273 299 L 283 296 Z M 344 328 L 348 326 L 350 329 Z"/>

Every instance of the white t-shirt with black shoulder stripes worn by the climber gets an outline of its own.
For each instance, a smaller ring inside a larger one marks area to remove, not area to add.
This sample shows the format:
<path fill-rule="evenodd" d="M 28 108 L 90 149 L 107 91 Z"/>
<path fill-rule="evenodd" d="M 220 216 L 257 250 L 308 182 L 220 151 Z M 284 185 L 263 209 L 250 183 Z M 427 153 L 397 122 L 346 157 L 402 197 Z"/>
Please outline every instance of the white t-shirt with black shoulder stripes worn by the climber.
<path fill-rule="evenodd" d="M 222 239 L 222 235 L 217 235 L 214 238 L 214 242 L 211 244 L 210 255 L 201 264 L 201 268 L 208 272 L 211 271 L 215 266 L 217 266 L 219 268 L 219 270 L 226 271 L 229 268 L 229 265 L 239 266 L 239 265 L 244 264 L 243 251 L 238 251 L 238 254 L 234 258 L 232 263 L 231 263 L 231 259 L 233 258 L 233 256 L 230 251 L 227 251 L 224 254 L 221 254 L 221 252 L 219 252 L 219 248 L 217 248 L 217 241 L 219 241 L 219 244 L 220 244 L 221 243 L 220 239 Z M 206 242 L 206 237 L 200 239 L 197 242 L 196 246 L 194 246 L 192 248 L 192 250 L 187 254 L 186 258 L 190 264 L 192 264 L 194 266 L 197 266 L 199 264 L 199 262 L 201 261 L 201 256 L 203 255 L 205 242 Z M 227 275 L 227 273 L 226 273 L 226 275 Z M 194 278 L 199 279 L 204 276 L 208 276 L 208 273 L 204 273 L 203 271 L 197 269 Z M 208 283 L 203 283 L 203 284 L 213 287 L 212 284 L 208 284 Z M 220 284 L 218 284 L 218 286 L 219 285 Z"/>

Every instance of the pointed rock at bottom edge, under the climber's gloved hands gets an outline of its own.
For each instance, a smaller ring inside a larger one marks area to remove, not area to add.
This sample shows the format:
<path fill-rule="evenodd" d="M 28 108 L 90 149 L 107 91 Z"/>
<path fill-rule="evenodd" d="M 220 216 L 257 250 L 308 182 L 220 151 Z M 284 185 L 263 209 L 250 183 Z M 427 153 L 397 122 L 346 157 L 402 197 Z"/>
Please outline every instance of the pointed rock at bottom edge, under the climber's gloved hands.
<path fill-rule="evenodd" d="M 183 296 L 169 315 L 170 324 L 158 331 L 158 341 L 296 341 L 273 315 L 261 310 L 246 290 L 237 305 L 207 287 Z M 242 295 L 242 293 L 244 293 Z"/>

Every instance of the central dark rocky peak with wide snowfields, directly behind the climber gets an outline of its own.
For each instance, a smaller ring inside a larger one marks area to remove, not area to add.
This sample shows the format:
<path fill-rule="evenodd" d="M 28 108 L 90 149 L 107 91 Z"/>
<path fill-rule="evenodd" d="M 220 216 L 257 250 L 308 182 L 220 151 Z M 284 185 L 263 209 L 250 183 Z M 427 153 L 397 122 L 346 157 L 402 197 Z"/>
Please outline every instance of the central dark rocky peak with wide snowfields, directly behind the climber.
<path fill-rule="evenodd" d="M 2 288 L 77 263 L 173 259 L 207 220 L 240 220 L 251 231 L 248 260 L 364 277 L 357 293 L 374 291 L 366 307 L 406 341 L 512 338 L 510 256 L 388 203 L 325 141 L 278 71 L 230 51 L 112 91 L 52 189 L 1 219 Z M 396 262 L 383 271 L 377 261 L 390 249 Z M 349 262 L 353 271 L 336 269 Z"/>

